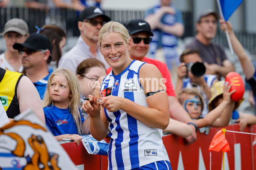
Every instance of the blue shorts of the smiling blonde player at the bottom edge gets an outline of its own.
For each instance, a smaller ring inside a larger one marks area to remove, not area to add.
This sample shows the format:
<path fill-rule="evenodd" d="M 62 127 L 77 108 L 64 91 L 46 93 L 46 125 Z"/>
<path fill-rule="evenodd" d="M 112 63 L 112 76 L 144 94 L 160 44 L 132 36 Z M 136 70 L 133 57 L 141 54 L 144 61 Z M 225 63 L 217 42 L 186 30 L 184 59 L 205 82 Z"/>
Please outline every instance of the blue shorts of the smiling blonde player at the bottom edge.
<path fill-rule="evenodd" d="M 142 167 L 137 167 L 133 170 L 172 170 L 172 167 L 169 161 L 157 161 Z"/>

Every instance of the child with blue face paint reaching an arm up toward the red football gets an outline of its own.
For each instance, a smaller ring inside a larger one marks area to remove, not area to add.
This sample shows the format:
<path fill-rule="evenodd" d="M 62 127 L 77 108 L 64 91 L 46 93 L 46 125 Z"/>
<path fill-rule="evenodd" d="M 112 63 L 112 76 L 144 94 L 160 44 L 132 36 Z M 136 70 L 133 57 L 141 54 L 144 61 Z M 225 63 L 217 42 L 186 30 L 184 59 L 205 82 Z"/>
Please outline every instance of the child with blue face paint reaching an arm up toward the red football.
<path fill-rule="evenodd" d="M 204 108 L 204 99 L 198 92 L 197 88 L 184 88 L 178 95 L 181 105 L 188 112 L 189 116 L 193 119 L 193 123 L 200 127 L 213 126 L 223 127 L 227 126 L 232 115 L 234 102 L 230 99 L 231 94 L 235 93 L 230 91 L 232 85 L 228 82 L 223 87 L 223 101 L 212 111 L 210 111 L 204 118 L 198 119 Z"/>

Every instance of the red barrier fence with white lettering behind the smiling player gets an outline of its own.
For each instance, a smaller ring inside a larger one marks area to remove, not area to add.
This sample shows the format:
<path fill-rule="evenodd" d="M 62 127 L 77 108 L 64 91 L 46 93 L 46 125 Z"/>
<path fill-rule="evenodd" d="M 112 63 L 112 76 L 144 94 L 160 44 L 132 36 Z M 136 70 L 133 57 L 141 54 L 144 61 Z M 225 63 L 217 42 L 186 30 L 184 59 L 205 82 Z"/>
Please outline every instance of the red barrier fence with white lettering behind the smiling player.
<path fill-rule="evenodd" d="M 226 130 L 240 132 L 239 125 L 230 125 Z M 209 145 L 218 130 L 222 128 L 210 128 L 209 134 L 197 133 L 197 141 L 186 144 L 183 138 L 167 135 L 163 136 L 172 170 L 209 170 L 222 169 L 222 152 L 212 151 L 211 157 Z M 247 126 L 245 133 L 256 133 L 256 125 Z M 256 136 L 244 133 L 226 132 L 225 137 L 230 145 L 230 151 L 224 154 L 224 170 L 256 170 Z M 81 143 L 75 142 L 61 144 L 79 170 L 107 170 L 107 156 L 90 155 Z M 254 153 L 254 154 L 253 154 Z"/>

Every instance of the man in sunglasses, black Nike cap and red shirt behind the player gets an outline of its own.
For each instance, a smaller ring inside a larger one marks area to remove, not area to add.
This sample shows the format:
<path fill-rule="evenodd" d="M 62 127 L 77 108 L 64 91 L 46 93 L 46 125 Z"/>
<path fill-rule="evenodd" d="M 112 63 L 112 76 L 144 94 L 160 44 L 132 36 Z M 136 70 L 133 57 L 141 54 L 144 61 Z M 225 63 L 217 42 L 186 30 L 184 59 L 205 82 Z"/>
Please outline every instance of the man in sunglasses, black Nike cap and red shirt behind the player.
<path fill-rule="evenodd" d="M 148 53 L 149 43 L 151 42 L 151 37 L 153 33 L 151 31 L 150 25 L 141 19 L 130 20 L 129 23 L 126 24 L 126 28 L 129 31 L 131 36 L 131 59 L 140 60 L 142 62 L 147 62 L 149 64 L 153 64 L 157 66 L 160 70 L 162 76 L 165 80 L 166 85 L 166 93 L 169 99 L 170 106 L 170 116 L 173 119 L 176 119 L 181 122 L 189 123 L 192 122 L 189 115 L 186 113 L 185 109 L 178 102 L 175 91 L 171 81 L 171 74 L 165 63 L 157 60 L 145 57 Z M 107 74 L 110 73 L 111 68 L 108 68 Z M 189 125 L 194 131 L 192 136 L 188 138 L 188 142 L 192 143 L 196 140 L 195 127 L 193 125 Z"/>

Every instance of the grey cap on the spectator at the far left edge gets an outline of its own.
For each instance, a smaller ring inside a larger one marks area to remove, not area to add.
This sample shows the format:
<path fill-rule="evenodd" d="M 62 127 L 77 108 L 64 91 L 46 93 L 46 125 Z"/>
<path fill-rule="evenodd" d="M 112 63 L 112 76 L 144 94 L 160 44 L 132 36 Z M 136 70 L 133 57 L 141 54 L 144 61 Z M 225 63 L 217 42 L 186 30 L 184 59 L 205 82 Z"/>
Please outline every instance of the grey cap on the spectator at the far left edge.
<path fill-rule="evenodd" d="M 7 32 L 14 31 L 21 35 L 26 35 L 29 33 L 29 27 L 27 23 L 20 18 L 13 18 L 4 25 L 3 33 L 1 35 L 6 34 Z"/>

